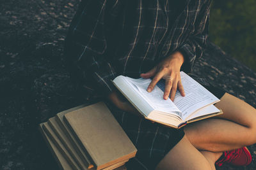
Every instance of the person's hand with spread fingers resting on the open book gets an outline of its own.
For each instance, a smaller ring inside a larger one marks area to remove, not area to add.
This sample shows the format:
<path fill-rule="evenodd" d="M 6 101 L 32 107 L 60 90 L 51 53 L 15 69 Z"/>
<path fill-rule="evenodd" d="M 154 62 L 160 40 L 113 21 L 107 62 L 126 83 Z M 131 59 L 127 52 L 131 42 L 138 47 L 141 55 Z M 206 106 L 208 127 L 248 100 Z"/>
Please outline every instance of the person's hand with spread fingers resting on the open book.
<path fill-rule="evenodd" d="M 148 71 L 147 73 L 141 74 L 142 78 L 150 78 L 154 76 L 151 83 L 148 85 L 148 92 L 152 92 L 156 83 L 163 78 L 165 80 L 165 89 L 163 98 L 166 100 L 170 96 L 173 101 L 177 87 L 180 91 L 181 96 L 185 96 L 185 92 L 180 80 L 180 67 L 184 62 L 182 53 L 175 52 L 169 57 L 159 62 L 157 66 Z M 171 94 L 171 95 L 170 95 Z"/>

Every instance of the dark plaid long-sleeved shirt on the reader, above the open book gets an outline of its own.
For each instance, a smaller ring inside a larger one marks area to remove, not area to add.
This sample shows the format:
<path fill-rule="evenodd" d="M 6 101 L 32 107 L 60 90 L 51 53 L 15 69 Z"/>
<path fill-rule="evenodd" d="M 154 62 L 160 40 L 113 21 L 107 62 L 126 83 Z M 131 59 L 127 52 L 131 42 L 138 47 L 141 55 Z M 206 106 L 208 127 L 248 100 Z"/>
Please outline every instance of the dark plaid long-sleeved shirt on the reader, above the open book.
<path fill-rule="evenodd" d="M 106 95 L 119 74 L 138 77 L 175 51 L 184 55 L 181 69 L 189 73 L 209 41 L 210 3 L 82 0 L 65 41 L 73 76 Z"/>

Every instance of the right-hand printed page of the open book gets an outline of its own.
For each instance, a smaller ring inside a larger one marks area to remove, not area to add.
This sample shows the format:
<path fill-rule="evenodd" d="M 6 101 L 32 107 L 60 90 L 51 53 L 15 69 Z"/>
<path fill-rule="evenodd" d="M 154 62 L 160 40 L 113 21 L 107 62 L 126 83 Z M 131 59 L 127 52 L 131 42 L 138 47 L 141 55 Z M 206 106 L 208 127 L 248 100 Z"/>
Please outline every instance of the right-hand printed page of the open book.
<path fill-rule="evenodd" d="M 173 103 L 182 111 L 182 118 L 186 119 L 191 113 L 200 108 L 220 101 L 186 73 L 180 72 L 180 76 L 185 91 L 185 97 L 182 97 L 177 90 Z"/>

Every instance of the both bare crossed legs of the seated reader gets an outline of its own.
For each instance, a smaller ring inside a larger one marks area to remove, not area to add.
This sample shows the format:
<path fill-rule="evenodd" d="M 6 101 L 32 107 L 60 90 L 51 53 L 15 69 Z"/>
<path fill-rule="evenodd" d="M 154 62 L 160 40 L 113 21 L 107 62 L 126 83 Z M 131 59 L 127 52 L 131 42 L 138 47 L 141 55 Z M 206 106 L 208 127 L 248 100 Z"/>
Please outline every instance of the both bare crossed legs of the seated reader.
<path fill-rule="evenodd" d="M 215 169 L 223 151 L 256 142 L 255 108 L 227 93 L 215 106 L 224 114 L 187 125 L 185 137 L 156 169 Z"/>

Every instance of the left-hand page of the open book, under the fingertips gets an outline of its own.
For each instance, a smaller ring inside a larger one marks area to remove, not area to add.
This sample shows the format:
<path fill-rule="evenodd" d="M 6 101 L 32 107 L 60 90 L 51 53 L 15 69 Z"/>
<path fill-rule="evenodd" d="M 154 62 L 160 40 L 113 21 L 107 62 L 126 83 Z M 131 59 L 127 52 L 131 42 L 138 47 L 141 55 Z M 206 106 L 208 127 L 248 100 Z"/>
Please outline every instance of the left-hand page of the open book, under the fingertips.
<path fill-rule="evenodd" d="M 134 90 L 138 90 L 138 92 L 140 92 L 143 98 L 150 103 L 154 110 L 166 113 L 175 113 L 179 115 L 179 117 L 181 116 L 179 108 L 177 108 L 170 99 L 163 99 L 164 93 L 159 89 L 159 87 L 156 86 L 152 92 L 147 92 L 147 87 L 151 82 L 150 79 L 133 79 L 125 77 L 125 80 L 133 85 Z"/>

